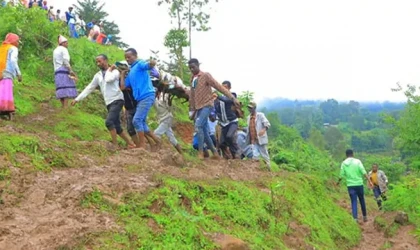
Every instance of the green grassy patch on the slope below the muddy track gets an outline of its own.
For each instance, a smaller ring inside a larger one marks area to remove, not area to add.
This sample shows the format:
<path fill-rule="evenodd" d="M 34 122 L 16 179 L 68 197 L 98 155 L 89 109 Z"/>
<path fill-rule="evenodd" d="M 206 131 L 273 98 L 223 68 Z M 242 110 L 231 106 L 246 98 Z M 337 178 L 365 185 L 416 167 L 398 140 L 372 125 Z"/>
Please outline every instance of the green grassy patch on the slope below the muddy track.
<path fill-rule="evenodd" d="M 291 177 L 267 181 L 271 194 L 256 183 L 162 178 L 159 188 L 147 195 L 128 194 L 121 204 L 109 202 L 104 198 L 109 194 L 96 189 L 82 205 L 114 214 L 124 230 L 87 244 L 95 249 L 214 249 L 209 235 L 224 233 L 245 240 L 252 249 L 284 249 L 283 238 L 293 234 L 288 225 L 296 222 L 310 229 L 304 239 L 308 245 L 356 245 L 360 230 L 321 182 L 301 174 Z"/>

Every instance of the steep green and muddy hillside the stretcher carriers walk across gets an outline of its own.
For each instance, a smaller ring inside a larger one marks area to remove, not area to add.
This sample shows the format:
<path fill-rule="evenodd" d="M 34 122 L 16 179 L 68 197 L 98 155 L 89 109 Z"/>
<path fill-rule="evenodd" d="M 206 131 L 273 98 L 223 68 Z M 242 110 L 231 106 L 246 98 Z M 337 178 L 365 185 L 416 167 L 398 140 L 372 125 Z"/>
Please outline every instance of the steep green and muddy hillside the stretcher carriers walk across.
<path fill-rule="evenodd" d="M 359 227 L 353 221 L 344 188 L 333 185 L 336 163 L 293 129 L 274 127 L 282 136 L 271 145 L 277 164 L 272 173 L 258 162 L 196 159 L 187 107 L 179 103 L 175 131 L 183 157 L 169 144 L 156 153 L 114 151 L 99 93 L 79 107 L 58 108 L 51 54 L 65 31 L 44 14 L 0 8 L 0 37 L 9 31 L 22 35 L 24 77 L 15 85 L 15 121 L 0 120 L 0 249 L 378 249 L 388 244 L 373 228 L 377 212 L 370 224 Z M 97 54 L 111 60 L 123 56 L 117 48 L 84 39 L 70 40 L 69 51 L 79 90 L 96 72 Z M 150 124 L 156 126 L 153 114 Z M 372 245 L 369 235 L 380 240 Z M 389 235 L 395 246 L 398 236 Z M 418 247 L 414 238 L 404 240 Z"/>

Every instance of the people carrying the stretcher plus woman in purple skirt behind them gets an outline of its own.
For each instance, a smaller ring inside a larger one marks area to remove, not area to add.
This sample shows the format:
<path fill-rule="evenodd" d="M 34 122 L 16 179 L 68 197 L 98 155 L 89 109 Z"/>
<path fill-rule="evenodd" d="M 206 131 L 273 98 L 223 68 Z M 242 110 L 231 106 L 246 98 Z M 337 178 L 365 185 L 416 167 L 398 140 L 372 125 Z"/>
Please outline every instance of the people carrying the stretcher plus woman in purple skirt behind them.
<path fill-rule="evenodd" d="M 72 102 L 72 105 L 75 105 L 99 87 L 108 109 L 106 126 L 115 144 L 117 135 L 120 135 L 129 148 L 145 148 L 147 141 L 153 149 L 156 149 L 161 145 L 161 137 L 166 135 L 175 149 L 182 152 L 172 131 L 171 99 L 167 96 L 168 94 L 158 91 L 153 86 L 151 80 L 153 78 L 175 88 L 183 88 L 188 93 L 190 118 L 195 124 L 195 148 L 200 158 L 205 158 L 207 150 L 213 153 L 214 158 L 219 158 L 220 153 L 216 147 L 220 146 L 222 155 L 227 159 L 244 157 L 258 159 L 261 156 L 270 167 L 267 149 L 267 129 L 270 123 L 265 115 L 256 111 L 255 103 L 248 105 L 250 116 L 246 131 L 249 133 L 246 134 L 245 143 L 238 144 L 239 117 L 238 112 L 235 112 L 235 107 L 238 107 L 240 103 L 236 99 L 236 94 L 230 92 L 231 83 L 225 81 L 219 84 L 209 73 L 200 70 L 197 59 L 189 61 L 193 77 L 191 87 L 186 87 L 179 77 L 157 70 L 155 61 L 139 60 L 135 49 L 125 51 L 125 62 L 117 62 L 111 66 L 109 66 L 107 56 L 100 55 L 96 58 L 100 72 L 78 95 L 75 84 L 77 78 L 72 71 L 67 50 L 68 41 L 60 36 L 58 43 L 59 46 L 54 50 L 53 55 L 57 99 L 60 99 L 62 107 L 66 108 L 69 99 L 75 98 Z M 223 95 L 217 95 L 213 89 L 220 91 Z M 147 125 L 147 116 L 152 107 L 155 107 L 159 121 L 159 126 L 154 132 Z M 126 114 L 127 131 L 131 138 L 125 135 L 121 128 L 120 113 L 123 108 Z M 211 132 L 215 129 L 212 130 L 211 127 L 214 126 L 210 126 L 209 123 L 219 123 L 221 129 L 217 138 L 211 138 Z M 249 151 L 251 148 L 252 154 L 241 150 L 243 147 L 238 146 L 244 144 L 246 144 L 244 149 L 248 147 L 246 150 Z M 243 154 L 243 152 L 246 153 Z"/>

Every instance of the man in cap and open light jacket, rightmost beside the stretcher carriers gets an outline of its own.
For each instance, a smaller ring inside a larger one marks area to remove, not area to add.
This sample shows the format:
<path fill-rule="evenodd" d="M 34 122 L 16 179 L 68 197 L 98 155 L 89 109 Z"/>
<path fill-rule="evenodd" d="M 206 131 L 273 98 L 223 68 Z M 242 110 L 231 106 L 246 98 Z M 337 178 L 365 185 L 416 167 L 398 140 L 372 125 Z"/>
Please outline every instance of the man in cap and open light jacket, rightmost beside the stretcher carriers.
<path fill-rule="evenodd" d="M 248 121 L 248 136 L 247 142 L 253 147 L 253 158 L 258 160 L 261 156 L 271 170 L 270 155 L 268 154 L 268 135 L 267 130 L 271 124 L 265 117 L 264 113 L 257 112 L 257 104 L 250 102 L 248 104 L 249 116 Z"/>

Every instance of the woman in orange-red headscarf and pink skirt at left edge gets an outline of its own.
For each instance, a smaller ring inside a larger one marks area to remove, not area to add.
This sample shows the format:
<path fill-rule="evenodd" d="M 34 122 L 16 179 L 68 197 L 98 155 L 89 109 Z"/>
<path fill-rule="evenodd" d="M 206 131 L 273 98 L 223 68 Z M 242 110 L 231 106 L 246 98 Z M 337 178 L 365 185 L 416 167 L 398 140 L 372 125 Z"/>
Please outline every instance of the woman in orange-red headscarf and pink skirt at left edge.
<path fill-rule="evenodd" d="M 18 65 L 19 36 L 13 33 L 6 35 L 0 46 L 0 114 L 8 115 L 12 120 L 15 112 L 15 102 L 13 98 L 13 79 L 18 78 L 22 81 Z"/>

